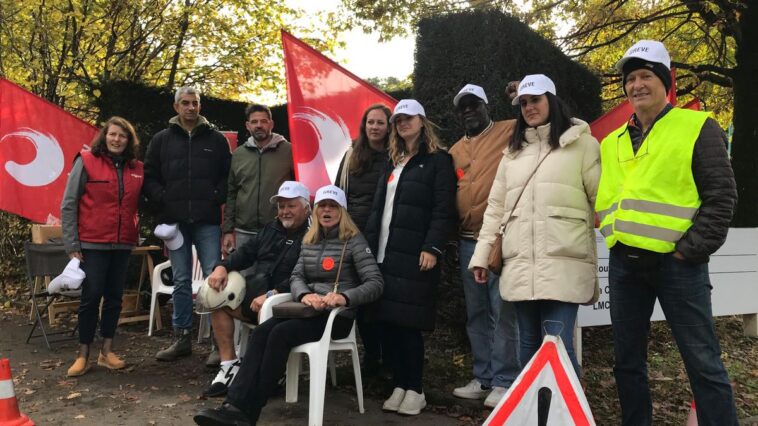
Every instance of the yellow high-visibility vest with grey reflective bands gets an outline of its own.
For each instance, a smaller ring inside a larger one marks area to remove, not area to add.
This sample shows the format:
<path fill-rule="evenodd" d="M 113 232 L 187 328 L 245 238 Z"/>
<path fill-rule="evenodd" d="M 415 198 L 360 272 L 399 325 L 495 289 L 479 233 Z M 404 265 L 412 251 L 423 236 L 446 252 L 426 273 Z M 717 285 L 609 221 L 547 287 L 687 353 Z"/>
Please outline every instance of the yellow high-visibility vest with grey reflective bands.
<path fill-rule="evenodd" d="M 603 139 L 595 210 L 608 248 L 620 241 L 658 253 L 675 250 L 700 208 L 692 151 L 709 115 L 671 109 L 637 153 L 626 123 Z"/>

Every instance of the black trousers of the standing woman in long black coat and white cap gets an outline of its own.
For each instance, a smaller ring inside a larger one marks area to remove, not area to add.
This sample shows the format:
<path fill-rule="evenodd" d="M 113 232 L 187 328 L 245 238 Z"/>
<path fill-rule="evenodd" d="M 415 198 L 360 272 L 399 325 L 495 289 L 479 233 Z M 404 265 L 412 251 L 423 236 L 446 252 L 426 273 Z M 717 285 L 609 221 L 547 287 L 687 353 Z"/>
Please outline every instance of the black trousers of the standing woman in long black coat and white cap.
<path fill-rule="evenodd" d="M 384 344 L 389 346 L 392 357 L 392 382 L 394 387 L 423 391 L 424 336 L 415 328 L 384 325 Z"/>

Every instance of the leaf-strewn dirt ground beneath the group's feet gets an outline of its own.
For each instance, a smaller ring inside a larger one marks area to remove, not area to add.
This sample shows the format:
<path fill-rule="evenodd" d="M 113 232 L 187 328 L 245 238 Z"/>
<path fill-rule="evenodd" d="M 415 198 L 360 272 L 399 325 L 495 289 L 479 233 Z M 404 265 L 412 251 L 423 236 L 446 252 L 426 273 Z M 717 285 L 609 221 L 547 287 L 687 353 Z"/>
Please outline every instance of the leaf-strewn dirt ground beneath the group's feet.
<path fill-rule="evenodd" d="M 200 397 L 215 371 L 204 367 L 207 342 L 193 346 L 193 355 L 175 363 L 159 363 L 154 354 L 169 343 L 167 329 L 147 337 L 147 323 L 119 327 L 116 349 L 128 363 L 121 371 L 93 365 L 80 378 L 66 377 L 77 343 L 54 343 L 49 351 L 38 338 L 25 344 L 30 328 L 28 310 L 0 305 L 0 358 L 10 358 L 19 405 L 38 425 L 189 425 L 202 408 L 221 400 Z M 164 309 L 164 323 L 170 323 Z M 469 380 L 470 354 L 460 327 L 438 327 L 427 336 L 424 384 L 429 407 L 419 416 L 384 413 L 383 400 L 391 393 L 388 376 L 364 377 L 365 414 L 358 413 L 352 369 L 338 358 L 337 388 L 327 384 L 326 425 L 474 425 L 489 411 L 481 401 L 452 397 L 450 392 Z M 740 317 L 716 321 L 722 358 L 734 382 L 741 424 L 758 425 L 758 339 L 742 334 Z M 613 380 L 610 327 L 585 329 L 582 382 L 599 425 L 619 424 L 619 405 Z M 692 398 L 676 346 L 663 323 L 654 323 L 649 349 L 654 424 L 685 423 Z M 94 358 L 94 357 L 93 357 Z M 308 383 L 301 378 L 295 404 L 283 395 L 270 401 L 261 425 L 302 425 L 308 418 Z"/>

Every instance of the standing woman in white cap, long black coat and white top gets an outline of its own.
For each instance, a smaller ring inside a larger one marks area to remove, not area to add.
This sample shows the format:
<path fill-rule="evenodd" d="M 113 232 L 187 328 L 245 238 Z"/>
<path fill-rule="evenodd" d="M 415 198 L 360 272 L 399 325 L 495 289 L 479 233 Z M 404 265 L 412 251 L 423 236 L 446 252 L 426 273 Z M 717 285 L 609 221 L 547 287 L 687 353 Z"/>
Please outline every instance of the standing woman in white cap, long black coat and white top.
<path fill-rule="evenodd" d="M 391 346 L 395 389 L 383 409 L 416 415 L 426 406 L 421 331 L 434 329 L 439 260 L 457 221 L 455 172 L 421 104 L 400 101 L 390 122 L 391 164 L 366 227 L 385 283 L 372 316 Z"/>

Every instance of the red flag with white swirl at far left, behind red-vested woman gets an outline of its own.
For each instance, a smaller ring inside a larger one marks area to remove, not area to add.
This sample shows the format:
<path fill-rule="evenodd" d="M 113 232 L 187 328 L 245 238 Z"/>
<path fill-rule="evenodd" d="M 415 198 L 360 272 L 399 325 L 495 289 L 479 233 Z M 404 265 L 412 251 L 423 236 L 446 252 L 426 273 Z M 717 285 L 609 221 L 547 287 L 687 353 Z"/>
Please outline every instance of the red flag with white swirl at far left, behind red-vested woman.
<path fill-rule="evenodd" d="M 97 128 L 0 78 L 0 210 L 59 218 L 74 156 Z"/>

